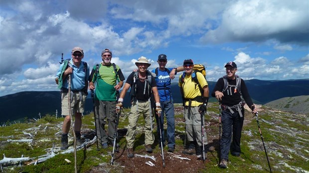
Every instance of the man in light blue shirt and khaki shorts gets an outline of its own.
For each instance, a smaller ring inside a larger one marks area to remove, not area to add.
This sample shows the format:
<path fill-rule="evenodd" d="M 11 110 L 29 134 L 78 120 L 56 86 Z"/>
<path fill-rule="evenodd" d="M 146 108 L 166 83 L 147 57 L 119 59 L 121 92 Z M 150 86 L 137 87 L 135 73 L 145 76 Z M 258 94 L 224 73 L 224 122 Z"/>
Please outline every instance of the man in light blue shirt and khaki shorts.
<path fill-rule="evenodd" d="M 69 111 L 75 116 L 74 129 L 76 134 L 77 145 L 81 145 L 80 129 L 82 126 L 82 113 L 84 112 L 84 105 L 88 94 L 88 78 L 89 66 L 83 62 L 84 51 L 80 47 L 72 49 L 72 58 L 65 60 L 61 65 L 56 75 L 56 82 L 59 81 L 61 87 L 61 110 L 62 115 L 65 116 L 62 125 L 61 136 L 61 150 L 68 149 L 68 133 L 71 125 L 71 118 Z M 68 76 L 71 75 L 71 98 L 68 97 Z M 69 99 L 71 107 L 68 106 Z"/>

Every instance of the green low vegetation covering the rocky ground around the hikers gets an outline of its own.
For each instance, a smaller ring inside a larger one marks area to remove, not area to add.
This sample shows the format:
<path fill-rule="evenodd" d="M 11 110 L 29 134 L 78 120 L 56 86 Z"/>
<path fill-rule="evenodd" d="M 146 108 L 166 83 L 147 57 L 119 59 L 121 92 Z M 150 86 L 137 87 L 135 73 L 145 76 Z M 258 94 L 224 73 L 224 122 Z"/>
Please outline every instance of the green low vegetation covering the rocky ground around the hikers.
<path fill-rule="evenodd" d="M 203 164 L 203 169 L 195 170 L 195 172 L 203 173 L 265 173 L 269 171 L 267 159 L 265 156 L 263 144 L 261 141 L 261 136 L 257 126 L 256 119 L 252 117 L 252 114 L 246 110 L 245 113 L 245 125 L 243 127 L 242 135 L 242 161 L 238 157 L 229 156 L 228 169 L 222 170 L 218 168 L 218 103 L 208 104 L 208 114 L 205 116 L 206 122 L 206 133 L 209 145 L 211 146 L 208 151 L 208 159 L 206 162 L 200 162 Z M 176 121 L 176 149 L 175 154 L 182 155 L 183 150 L 183 132 L 184 122 L 183 122 L 183 112 L 181 105 L 175 104 L 178 112 L 175 115 Z M 308 116 L 291 114 L 286 112 L 277 112 L 276 110 L 269 107 L 261 107 L 259 111 L 259 122 L 261 125 L 261 131 L 263 134 L 264 142 L 266 144 L 268 157 L 270 164 L 272 166 L 272 171 L 276 172 L 287 172 L 294 173 L 297 172 L 296 169 L 301 169 L 303 171 L 309 170 L 308 159 L 309 153 L 309 127 L 308 127 Z M 181 111 L 180 111 L 181 110 Z M 125 109 L 125 116 L 120 117 L 119 129 L 126 128 L 128 124 L 128 114 L 129 109 Z M 155 120 L 155 119 L 154 119 Z M 34 123 L 17 123 L 6 127 L 0 127 L 0 156 L 5 156 L 7 158 L 19 158 L 21 155 L 23 157 L 38 157 L 46 154 L 53 144 L 60 146 L 60 134 L 57 132 L 61 131 L 61 123 L 63 118 L 56 119 L 52 115 L 43 117 L 42 119 Z M 83 126 L 82 129 L 94 129 L 94 115 L 93 113 L 86 115 L 82 118 Z M 140 116 L 138 120 L 138 130 L 135 141 L 135 151 L 139 153 L 145 150 L 143 133 L 144 129 L 144 118 Z M 164 123 L 164 130 L 166 131 L 166 120 Z M 29 135 L 24 134 L 30 133 L 33 135 L 31 138 Z M 70 130 L 71 132 L 71 130 Z M 158 136 L 156 134 L 156 124 L 154 123 L 154 136 L 155 136 L 155 147 L 154 154 L 159 155 L 160 149 L 158 145 Z M 32 143 L 16 143 L 7 142 L 7 140 L 17 140 L 17 139 L 33 139 Z M 126 146 L 126 139 L 120 137 L 121 148 Z M 118 173 L 119 170 L 124 168 L 121 167 L 121 163 L 113 166 L 113 169 L 109 166 L 111 161 L 111 150 L 109 147 L 106 150 L 96 149 L 96 144 L 87 148 L 87 150 L 80 150 L 77 152 L 77 167 L 80 173 L 89 172 L 90 170 L 98 167 L 99 165 L 104 165 L 109 172 Z M 122 154 L 122 157 L 126 157 L 126 152 Z M 182 155 L 182 157 L 185 157 Z M 67 163 L 64 159 L 70 160 L 72 163 Z M 168 157 L 165 160 L 169 159 Z M 161 159 L 158 158 L 161 162 Z M 117 162 L 117 160 L 116 160 Z M 189 161 L 185 161 L 189 162 Z M 288 166 L 285 166 L 288 165 Z M 114 168 L 118 167 L 118 171 Z M 148 167 L 146 165 L 141 165 L 141 167 Z M 166 166 L 168 167 L 168 166 Z M 150 172 L 155 172 L 154 168 L 150 168 Z M 167 169 L 167 168 L 166 168 Z M 4 172 L 8 173 L 19 173 L 19 172 L 29 172 L 29 173 L 60 173 L 74 172 L 74 154 L 57 154 L 55 157 L 40 163 L 36 166 L 21 166 L 21 167 L 4 167 Z M 134 172 L 134 170 L 132 170 Z"/>

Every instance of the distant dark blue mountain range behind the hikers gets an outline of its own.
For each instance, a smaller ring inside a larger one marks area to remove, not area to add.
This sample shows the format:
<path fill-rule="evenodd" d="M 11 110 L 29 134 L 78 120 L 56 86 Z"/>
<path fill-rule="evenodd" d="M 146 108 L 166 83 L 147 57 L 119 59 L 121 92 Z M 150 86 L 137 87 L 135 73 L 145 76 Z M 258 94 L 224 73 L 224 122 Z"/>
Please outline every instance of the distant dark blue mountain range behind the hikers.
<path fill-rule="evenodd" d="M 309 79 L 305 80 L 286 80 L 286 81 L 245 81 L 249 93 L 256 104 L 265 104 L 283 97 L 293 97 L 300 95 L 309 95 Z M 208 82 L 210 92 L 216 82 Z M 182 102 L 177 83 L 172 83 L 171 91 L 175 103 Z M 210 101 L 216 101 L 210 97 Z M 126 94 L 124 106 L 130 106 L 129 93 Z M 23 91 L 0 97 L 0 122 L 7 120 L 18 120 L 28 118 L 38 118 L 45 114 L 55 115 L 58 111 L 58 117 L 61 116 L 61 95 L 60 91 Z M 93 102 L 90 92 L 86 100 L 85 114 L 93 111 Z"/>

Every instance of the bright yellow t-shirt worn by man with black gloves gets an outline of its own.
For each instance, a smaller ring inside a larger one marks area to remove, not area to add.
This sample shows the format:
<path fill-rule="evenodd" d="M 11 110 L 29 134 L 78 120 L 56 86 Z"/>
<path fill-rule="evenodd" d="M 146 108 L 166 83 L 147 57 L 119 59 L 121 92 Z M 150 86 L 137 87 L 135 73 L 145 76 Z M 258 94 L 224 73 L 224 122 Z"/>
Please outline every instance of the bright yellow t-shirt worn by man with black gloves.
<path fill-rule="evenodd" d="M 185 78 L 183 79 L 184 83 L 182 82 L 181 76 L 182 75 L 180 75 L 179 77 L 178 86 L 182 87 L 184 98 L 195 98 L 197 96 L 202 96 L 198 85 L 195 85 L 195 82 L 194 80 L 192 80 L 191 75 L 190 76 L 185 75 Z M 205 77 L 201 73 L 196 73 L 196 77 L 202 88 L 204 86 L 208 86 Z M 191 102 L 191 106 L 199 106 L 200 104 L 201 102 L 198 101 Z M 189 101 L 186 101 L 185 105 L 188 106 Z"/>

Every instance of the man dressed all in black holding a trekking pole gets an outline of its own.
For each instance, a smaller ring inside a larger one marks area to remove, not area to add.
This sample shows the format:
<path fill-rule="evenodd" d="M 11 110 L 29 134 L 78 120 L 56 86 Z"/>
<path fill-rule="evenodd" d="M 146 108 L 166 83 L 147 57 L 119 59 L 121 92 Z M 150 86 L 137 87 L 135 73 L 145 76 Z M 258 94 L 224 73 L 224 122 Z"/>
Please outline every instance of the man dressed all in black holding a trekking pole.
<path fill-rule="evenodd" d="M 234 62 L 228 62 L 224 67 L 226 76 L 218 80 L 216 86 L 211 92 L 211 95 L 216 97 L 219 102 L 221 102 L 222 109 L 222 137 L 220 141 L 219 164 L 220 168 L 227 168 L 229 151 L 231 151 L 232 156 L 240 157 L 240 138 L 245 113 L 243 107 L 245 102 L 243 102 L 243 99 L 251 108 L 252 113 L 257 112 L 257 108 L 252 102 L 245 82 L 243 79 L 235 75 L 237 72 L 237 65 Z M 237 83 L 240 85 L 238 86 Z"/>

